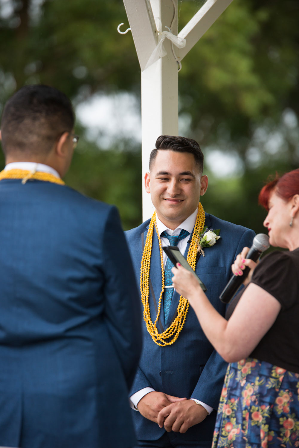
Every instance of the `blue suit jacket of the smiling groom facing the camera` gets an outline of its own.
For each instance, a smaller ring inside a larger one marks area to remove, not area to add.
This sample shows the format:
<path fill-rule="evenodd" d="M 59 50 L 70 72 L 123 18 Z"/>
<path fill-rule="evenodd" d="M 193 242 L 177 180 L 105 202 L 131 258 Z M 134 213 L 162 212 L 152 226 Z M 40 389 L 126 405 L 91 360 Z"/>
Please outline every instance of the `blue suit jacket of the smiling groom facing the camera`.
<path fill-rule="evenodd" d="M 149 222 L 150 220 L 125 232 L 136 280 L 139 282 L 140 263 Z M 208 214 L 206 214 L 205 225 L 208 228 L 220 228 L 221 238 L 215 246 L 204 250 L 205 256 L 199 257 L 195 272 L 208 288 L 206 294 L 212 305 L 224 315 L 225 305 L 219 300 L 219 296 L 232 275 L 231 264 L 244 246 L 251 246 L 255 233 Z M 188 250 L 189 244 L 185 256 Z M 161 289 L 160 252 L 158 238 L 154 231 L 149 297 L 152 321 L 156 319 Z M 159 332 L 169 327 L 175 318 L 178 301 L 179 295 L 174 292 L 166 326 L 164 310 L 161 306 L 157 324 Z M 156 391 L 173 396 L 196 398 L 217 409 L 226 366 L 227 364 L 208 342 L 190 306 L 184 327 L 173 345 L 166 347 L 156 345 L 143 321 L 143 353 L 130 394 L 133 395 L 145 387 L 152 387 Z M 134 410 L 132 412 L 139 440 L 155 440 L 161 437 L 165 431 L 164 428 L 159 428 L 156 423 L 147 420 L 139 412 Z M 213 411 L 202 423 L 191 426 L 182 438 L 198 441 L 212 440 L 216 414 L 216 411 Z"/>

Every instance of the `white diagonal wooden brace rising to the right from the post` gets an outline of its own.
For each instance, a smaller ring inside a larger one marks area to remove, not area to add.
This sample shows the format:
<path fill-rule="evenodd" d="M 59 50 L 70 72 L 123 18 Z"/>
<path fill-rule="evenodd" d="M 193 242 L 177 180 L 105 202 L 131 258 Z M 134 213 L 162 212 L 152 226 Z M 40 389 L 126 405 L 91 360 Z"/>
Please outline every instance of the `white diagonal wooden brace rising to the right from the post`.
<path fill-rule="evenodd" d="M 204 33 L 212 26 L 217 18 L 223 13 L 233 0 L 207 0 L 197 11 L 195 16 L 179 32 L 179 36 L 186 39 L 186 47 L 178 50 L 180 60 L 199 41 Z"/>

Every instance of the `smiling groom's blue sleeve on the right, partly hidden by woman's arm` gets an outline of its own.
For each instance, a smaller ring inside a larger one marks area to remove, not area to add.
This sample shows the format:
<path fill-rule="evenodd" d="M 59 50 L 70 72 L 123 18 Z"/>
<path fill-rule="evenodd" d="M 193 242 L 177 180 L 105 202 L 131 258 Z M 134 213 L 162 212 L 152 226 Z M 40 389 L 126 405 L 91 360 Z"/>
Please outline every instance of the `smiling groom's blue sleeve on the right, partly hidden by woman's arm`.
<path fill-rule="evenodd" d="M 234 262 L 236 256 L 242 251 L 243 247 L 251 247 L 254 236 L 255 233 L 253 230 L 248 229 L 243 233 L 238 242 L 234 256 L 232 257 L 231 264 Z M 223 285 L 223 288 L 224 286 L 225 285 Z M 221 286 L 219 295 L 221 294 L 223 288 Z M 207 405 L 212 406 L 212 408 L 217 409 L 226 368 L 227 363 L 223 358 L 221 358 L 216 350 L 213 350 L 208 362 L 204 366 L 204 370 L 199 377 L 195 389 L 192 392 L 191 398 L 196 398 L 197 400 L 203 401 Z"/>

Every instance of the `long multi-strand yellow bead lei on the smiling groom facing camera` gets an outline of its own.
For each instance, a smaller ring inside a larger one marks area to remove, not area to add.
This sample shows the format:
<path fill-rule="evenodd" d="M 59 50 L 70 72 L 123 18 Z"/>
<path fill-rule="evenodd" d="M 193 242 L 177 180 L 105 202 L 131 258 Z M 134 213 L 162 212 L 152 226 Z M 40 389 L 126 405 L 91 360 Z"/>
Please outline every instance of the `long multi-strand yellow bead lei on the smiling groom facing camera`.
<path fill-rule="evenodd" d="M 196 266 L 196 254 L 197 254 L 197 244 L 196 239 L 199 234 L 202 233 L 204 228 L 204 208 L 199 202 L 198 206 L 198 212 L 196 216 L 195 221 L 195 227 L 194 232 L 192 235 L 192 240 L 190 243 L 190 247 L 188 250 L 187 255 L 187 262 L 192 267 L 193 271 L 195 271 Z M 154 233 L 154 227 L 156 229 L 156 233 L 159 240 L 159 248 L 160 248 L 160 259 L 161 259 L 161 271 L 162 271 L 162 291 L 160 293 L 159 297 L 159 305 L 158 305 L 158 312 L 155 322 L 152 322 L 151 319 L 151 313 L 150 313 L 150 307 L 148 303 L 148 296 L 149 296 L 149 287 L 148 287 L 148 280 L 149 280 L 149 271 L 151 266 L 151 254 L 152 254 L 152 238 Z M 178 315 L 174 319 L 173 323 L 168 327 L 163 333 L 158 333 L 158 329 L 156 326 L 156 323 L 158 322 L 159 316 L 160 316 L 160 310 L 161 310 L 161 301 L 162 301 L 162 295 L 164 292 L 164 286 L 165 286 L 165 278 L 164 278 L 164 263 L 163 263 L 163 252 L 162 252 L 162 246 L 161 246 L 161 240 L 160 235 L 158 233 L 157 224 L 156 224 L 156 211 L 152 215 L 151 222 L 148 227 L 147 232 L 147 239 L 145 241 L 142 260 L 141 260 L 141 269 L 140 269 L 140 291 L 141 291 L 141 300 L 143 303 L 143 319 L 147 326 L 147 331 L 152 336 L 152 340 L 161 347 L 165 347 L 165 345 L 172 345 L 173 342 L 175 342 L 178 339 L 178 335 L 180 334 L 182 327 L 184 326 L 185 320 L 186 320 L 186 314 L 188 312 L 189 308 L 189 302 L 185 297 L 180 297 L 180 301 L 178 303 Z M 169 340 L 169 338 L 173 338 Z"/>

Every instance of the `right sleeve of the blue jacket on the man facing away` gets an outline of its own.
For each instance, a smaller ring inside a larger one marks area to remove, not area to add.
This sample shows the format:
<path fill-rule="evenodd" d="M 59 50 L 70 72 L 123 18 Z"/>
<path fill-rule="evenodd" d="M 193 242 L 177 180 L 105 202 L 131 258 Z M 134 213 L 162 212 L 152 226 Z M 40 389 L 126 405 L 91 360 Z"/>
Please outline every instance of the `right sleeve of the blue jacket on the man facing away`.
<path fill-rule="evenodd" d="M 105 317 L 108 331 L 131 388 L 142 348 L 140 303 L 133 266 L 116 207 L 103 235 Z"/>

